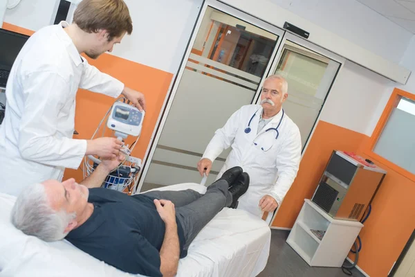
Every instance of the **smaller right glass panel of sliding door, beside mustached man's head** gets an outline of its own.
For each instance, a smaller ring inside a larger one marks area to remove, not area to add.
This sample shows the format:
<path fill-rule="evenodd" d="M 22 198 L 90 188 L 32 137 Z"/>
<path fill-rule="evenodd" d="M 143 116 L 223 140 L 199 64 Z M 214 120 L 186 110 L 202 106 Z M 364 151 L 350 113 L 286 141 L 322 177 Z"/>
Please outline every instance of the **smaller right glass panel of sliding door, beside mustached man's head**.
<path fill-rule="evenodd" d="M 299 127 L 303 148 L 339 68 L 339 62 L 299 44 L 288 40 L 284 44 L 275 73 L 283 75 L 288 82 L 284 111 Z"/>

